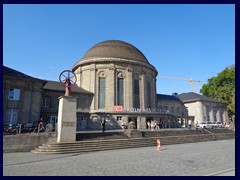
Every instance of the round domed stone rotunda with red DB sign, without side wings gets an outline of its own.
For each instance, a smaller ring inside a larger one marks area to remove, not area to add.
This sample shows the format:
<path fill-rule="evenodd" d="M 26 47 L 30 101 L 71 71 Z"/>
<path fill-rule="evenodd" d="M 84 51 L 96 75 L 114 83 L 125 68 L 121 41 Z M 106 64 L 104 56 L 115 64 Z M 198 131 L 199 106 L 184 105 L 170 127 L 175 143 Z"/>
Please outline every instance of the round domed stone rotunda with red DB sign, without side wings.
<path fill-rule="evenodd" d="M 94 94 L 90 119 L 134 121 L 146 128 L 146 109 L 156 107 L 158 72 L 139 49 L 123 41 L 101 42 L 75 63 L 73 72 L 77 86 Z"/>

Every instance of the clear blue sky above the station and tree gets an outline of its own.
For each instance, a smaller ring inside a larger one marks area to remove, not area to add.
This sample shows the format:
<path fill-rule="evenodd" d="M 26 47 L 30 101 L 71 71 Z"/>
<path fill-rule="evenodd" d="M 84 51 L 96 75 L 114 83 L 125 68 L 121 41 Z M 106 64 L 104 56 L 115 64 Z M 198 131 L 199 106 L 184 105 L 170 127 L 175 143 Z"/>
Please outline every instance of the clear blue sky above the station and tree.
<path fill-rule="evenodd" d="M 58 81 L 94 45 L 121 40 L 158 71 L 157 93 L 200 93 L 235 64 L 234 4 L 4 4 L 3 65 Z M 162 76 L 179 79 L 161 78 Z"/>

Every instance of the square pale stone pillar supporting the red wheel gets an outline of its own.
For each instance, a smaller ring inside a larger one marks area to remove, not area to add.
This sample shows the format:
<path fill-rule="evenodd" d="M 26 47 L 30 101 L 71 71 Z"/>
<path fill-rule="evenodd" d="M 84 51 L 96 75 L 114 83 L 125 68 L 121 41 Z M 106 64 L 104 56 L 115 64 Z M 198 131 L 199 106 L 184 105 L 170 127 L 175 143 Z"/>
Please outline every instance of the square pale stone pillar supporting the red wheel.
<path fill-rule="evenodd" d="M 74 97 L 59 97 L 57 142 L 76 141 L 76 105 Z"/>

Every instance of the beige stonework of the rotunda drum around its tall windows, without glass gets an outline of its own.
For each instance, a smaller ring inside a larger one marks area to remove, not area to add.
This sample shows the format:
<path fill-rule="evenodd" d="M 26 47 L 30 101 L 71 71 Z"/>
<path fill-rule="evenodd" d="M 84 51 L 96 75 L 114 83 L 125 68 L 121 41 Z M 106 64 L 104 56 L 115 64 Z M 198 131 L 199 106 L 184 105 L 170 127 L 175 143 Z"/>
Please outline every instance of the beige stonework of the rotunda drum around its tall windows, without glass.
<path fill-rule="evenodd" d="M 155 78 L 156 73 L 152 73 L 151 69 L 143 68 L 142 66 L 135 66 L 134 70 L 132 67 L 129 67 L 127 64 L 119 63 L 99 63 L 93 65 L 86 65 L 86 67 L 78 67 L 75 70 L 77 75 L 77 85 L 86 89 L 93 94 L 95 94 L 94 99 L 91 104 L 90 112 L 101 112 L 101 109 L 98 108 L 98 91 L 99 91 L 99 77 L 106 78 L 106 107 L 103 109 L 103 112 L 113 112 L 114 106 L 116 105 L 116 84 L 117 78 L 121 77 L 124 79 L 124 106 L 123 108 L 133 108 L 133 89 L 134 89 L 134 79 L 139 80 L 139 92 L 140 92 L 140 108 L 147 107 L 147 92 L 146 92 L 146 83 L 149 82 L 151 88 L 151 105 L 150 107 L 155 107 L 156 104 L 156 84 Z"/>

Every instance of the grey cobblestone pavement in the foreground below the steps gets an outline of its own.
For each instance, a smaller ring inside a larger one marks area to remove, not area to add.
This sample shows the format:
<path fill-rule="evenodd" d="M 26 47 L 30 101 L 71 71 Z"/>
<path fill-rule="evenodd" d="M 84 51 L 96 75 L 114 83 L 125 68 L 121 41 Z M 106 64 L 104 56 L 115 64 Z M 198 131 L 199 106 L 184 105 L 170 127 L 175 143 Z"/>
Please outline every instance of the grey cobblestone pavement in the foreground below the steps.
<path fill-rule="evenodd" d="M 235 176 L 235 139 L 91 153 L 4 153 L 4 176 Z"/>

